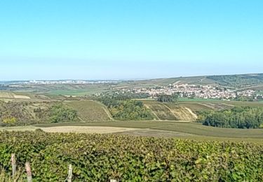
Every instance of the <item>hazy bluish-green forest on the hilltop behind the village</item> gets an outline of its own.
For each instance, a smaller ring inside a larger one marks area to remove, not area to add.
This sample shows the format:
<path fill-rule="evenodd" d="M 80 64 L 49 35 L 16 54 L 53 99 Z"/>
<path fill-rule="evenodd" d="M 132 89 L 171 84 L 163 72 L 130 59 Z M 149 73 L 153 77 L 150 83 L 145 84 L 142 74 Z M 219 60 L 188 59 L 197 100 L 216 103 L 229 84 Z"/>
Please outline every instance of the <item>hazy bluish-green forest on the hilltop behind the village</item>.
<path fill-rule="evenodd" d="M 244 74 L 244 75 L 207 76 L 207 78 L 211 80 L 215 80 L 220 85 L 226 87 L 235 87 L 235 88 L 263 84 L 263 73 Z"/>

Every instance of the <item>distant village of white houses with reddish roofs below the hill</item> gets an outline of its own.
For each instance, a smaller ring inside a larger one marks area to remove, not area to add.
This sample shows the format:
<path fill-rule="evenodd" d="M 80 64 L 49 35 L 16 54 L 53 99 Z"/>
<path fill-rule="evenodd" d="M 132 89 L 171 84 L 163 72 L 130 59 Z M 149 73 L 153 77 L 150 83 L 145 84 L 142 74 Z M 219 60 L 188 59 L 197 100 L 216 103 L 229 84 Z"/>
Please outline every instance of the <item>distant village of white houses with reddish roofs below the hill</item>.
<path fill-rule="evenodd" d="M 184 98 L 201 98 L 201 99 L 222 99 L 233 100 L 237 98 L 246 98 L 252 100 L 262 100 L 263 94 L 255 92 L 255 90 L 229 90 L 224 87 L 213 85 L 189 85 L 189 84 L 175 84 L 159 87 L 138 87 L 133 89 L 123 88 L 122 92 L 134 92 L 137 94 L 149 94 L 151 98 L 155 98 L 160 94 L 178 94 L 179 97 Z"/>

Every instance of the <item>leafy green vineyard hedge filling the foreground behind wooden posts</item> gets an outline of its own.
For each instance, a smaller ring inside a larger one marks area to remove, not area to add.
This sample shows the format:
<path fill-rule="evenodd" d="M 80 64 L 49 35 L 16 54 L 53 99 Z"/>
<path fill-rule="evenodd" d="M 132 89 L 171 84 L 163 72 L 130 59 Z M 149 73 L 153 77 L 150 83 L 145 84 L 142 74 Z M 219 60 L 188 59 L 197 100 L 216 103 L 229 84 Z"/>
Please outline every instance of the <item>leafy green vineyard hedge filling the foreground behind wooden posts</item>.
<path fill-rule="evenodd" d="M 72 181 L 263 181 L 263 144 L 0 132 L 0 151 L 6 179 L 15 153 L 18 169 L 30 163 L 33 181 L 65 181 L 69 164 Z"/>

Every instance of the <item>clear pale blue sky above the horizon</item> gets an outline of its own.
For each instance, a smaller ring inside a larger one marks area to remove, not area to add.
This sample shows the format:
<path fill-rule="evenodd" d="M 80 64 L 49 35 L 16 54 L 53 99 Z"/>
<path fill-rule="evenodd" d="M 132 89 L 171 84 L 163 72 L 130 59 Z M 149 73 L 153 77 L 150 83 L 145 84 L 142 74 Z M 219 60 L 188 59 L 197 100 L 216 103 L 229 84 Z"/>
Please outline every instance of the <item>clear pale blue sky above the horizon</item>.
<path fill-rule="evenodd" d="M 263 72 L 262 0 L 1 0 L 0 80 Z"/>

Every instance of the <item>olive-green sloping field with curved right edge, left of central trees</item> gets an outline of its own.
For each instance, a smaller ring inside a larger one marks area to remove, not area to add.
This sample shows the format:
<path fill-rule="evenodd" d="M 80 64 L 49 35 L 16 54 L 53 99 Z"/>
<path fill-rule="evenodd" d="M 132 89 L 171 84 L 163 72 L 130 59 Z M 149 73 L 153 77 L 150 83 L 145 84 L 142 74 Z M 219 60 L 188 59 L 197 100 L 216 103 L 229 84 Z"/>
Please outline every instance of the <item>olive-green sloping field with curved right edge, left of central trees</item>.
<path fill-rule="evenodd" d="M 107 121 L 112 120 L 108 109 L 103 104 L 95 101 L 72 101 L 65 104 L 78 112 L 82 121 Z"/>

